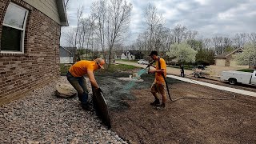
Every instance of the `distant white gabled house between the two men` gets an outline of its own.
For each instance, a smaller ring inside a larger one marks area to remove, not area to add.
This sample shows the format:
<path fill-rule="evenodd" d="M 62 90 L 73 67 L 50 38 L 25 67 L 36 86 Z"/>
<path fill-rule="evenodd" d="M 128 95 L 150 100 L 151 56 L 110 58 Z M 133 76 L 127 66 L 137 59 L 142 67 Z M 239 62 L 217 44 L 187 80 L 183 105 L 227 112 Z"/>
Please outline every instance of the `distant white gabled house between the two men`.
<path fill-rule="evenodd" d="M 116 52 L 114 56 L 114 58 L 128 59 L 128 60 L 142 59 L 143 57 L 144 57 L 144 54 L 142 54 L 140 50 L 128 50 L 128 51 Z"/>

